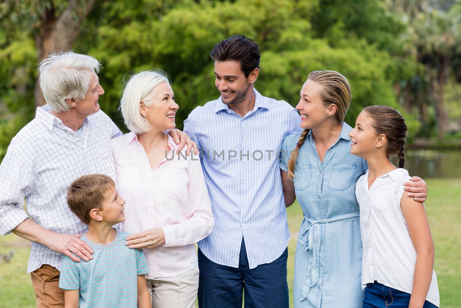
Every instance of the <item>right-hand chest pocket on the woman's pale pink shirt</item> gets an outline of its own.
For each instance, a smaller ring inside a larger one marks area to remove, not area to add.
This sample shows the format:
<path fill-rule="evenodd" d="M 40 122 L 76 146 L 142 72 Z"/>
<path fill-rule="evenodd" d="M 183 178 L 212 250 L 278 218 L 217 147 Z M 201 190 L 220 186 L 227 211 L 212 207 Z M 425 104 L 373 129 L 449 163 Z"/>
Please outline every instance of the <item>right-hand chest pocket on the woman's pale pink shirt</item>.
<path fill-rule="evenodd" d="M 162 175 L 162 200 L 160 207 L 185 210 L 189 204 L 189 175 L 183 169 L 168 169 Z"/>

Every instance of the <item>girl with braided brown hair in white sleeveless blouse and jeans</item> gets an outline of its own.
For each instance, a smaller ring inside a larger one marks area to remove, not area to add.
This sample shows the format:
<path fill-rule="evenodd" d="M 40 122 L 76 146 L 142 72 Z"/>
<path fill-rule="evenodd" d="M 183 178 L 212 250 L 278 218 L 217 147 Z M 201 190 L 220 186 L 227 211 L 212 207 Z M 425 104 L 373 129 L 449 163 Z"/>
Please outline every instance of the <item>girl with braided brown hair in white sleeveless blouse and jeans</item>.
<path fill-rule="evenodd" d="M 402 115 L 383 105 L 357 117 L 350 152 L 368 163 L 357 181 L 360 205 L 363 308 L 439 307 L 434 244 L 424 205 L 404 193 L 407 126 Z M 399 157 L 396 168 L 389 157 Z"/>

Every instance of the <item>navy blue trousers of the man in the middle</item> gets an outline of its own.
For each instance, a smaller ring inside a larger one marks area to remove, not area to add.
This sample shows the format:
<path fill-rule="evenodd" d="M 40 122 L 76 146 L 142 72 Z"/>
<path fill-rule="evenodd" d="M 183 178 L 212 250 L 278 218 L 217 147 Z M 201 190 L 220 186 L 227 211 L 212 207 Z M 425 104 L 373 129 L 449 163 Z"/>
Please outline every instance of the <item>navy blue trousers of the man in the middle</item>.
<path fill-rule="evenodd" d="M 288 308 L 288 248 L 271 263 L 248 267 L 245 242 L 242 239 L 238 268 L 209 260 L 198 251 L 200 308 Z"/>

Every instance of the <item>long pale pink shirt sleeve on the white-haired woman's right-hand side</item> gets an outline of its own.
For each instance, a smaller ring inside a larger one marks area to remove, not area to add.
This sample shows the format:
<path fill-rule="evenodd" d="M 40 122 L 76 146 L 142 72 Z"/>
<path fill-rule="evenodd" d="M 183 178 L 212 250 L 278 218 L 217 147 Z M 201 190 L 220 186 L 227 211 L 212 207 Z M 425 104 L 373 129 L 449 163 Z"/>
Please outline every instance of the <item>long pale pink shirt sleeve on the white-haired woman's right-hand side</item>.
<path fill-rule="evenodd" d="M 213 229 L 214 218 L 210 197 L 198 156 L 189 161 L 189 209 L 190 218 L 184 223 L 163 227 L 165 247 L 196 243 L 208 236 Z"/>

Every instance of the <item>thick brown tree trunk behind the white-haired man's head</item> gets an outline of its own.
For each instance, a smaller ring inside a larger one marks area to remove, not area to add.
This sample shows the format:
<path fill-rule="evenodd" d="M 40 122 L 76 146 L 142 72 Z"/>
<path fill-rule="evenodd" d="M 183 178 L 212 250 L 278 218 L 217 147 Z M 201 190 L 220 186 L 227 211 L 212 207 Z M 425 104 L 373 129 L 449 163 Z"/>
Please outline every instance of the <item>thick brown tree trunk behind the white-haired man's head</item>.
<path fill-rule="evenodd" d="M 79 6 L 80 0 L 69 0 L 65 10 L 56 17 L 53 0 L 50 0 L 49 8 L 45 9 L 41 17 L 41 30 L 35 35 L 37 48 L 37 60 L 40 63 L 52 51 L 68 51 L 77 38 L 83 20 L 95 4 L 95 0 L 87 0 L 84 7 Z M 46 104 L 40 88 L 38 74 L 35 80 L 35 106 Z"/>

